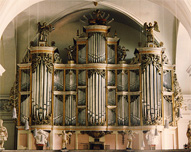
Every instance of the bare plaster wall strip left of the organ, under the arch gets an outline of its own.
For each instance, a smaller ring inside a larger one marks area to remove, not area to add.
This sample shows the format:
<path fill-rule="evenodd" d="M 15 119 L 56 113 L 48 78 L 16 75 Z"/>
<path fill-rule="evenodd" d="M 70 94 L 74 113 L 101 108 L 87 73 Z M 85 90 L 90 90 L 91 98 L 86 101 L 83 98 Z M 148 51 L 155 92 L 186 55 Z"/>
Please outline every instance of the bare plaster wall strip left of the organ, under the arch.
<path fill-rule="evenodd" d="M 11 22 L 0 40 L 0 64 L 6 70 L 0 77 L 0 95 L 9 95 L 15 81 L 16 56 L 14 24 Z"/>

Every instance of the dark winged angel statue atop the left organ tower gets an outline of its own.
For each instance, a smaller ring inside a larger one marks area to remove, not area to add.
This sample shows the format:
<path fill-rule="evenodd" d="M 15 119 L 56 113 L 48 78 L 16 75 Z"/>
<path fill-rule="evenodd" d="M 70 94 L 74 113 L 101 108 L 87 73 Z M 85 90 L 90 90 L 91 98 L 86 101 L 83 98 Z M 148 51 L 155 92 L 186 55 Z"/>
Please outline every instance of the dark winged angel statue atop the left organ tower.
<path fill-rule="evenodd" d="M 49 32 L 52 32 L 52 30 L 54 30 L 54 27 L 52 27 L 51 24 L 47 25 L 47 23 L 44 22 L 41 25 L 41 23 L 38 22 L 39 41 L 47 42 L 47 36 Z"/>

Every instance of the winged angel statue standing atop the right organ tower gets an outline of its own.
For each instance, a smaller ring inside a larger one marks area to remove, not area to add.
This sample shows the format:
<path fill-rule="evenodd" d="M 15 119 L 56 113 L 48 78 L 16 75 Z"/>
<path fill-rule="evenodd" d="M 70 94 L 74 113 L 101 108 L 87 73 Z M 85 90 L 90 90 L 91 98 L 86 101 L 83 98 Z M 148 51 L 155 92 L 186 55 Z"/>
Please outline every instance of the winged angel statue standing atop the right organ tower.
<path fill-rule="evenodd" d="M 149 25 L 147 22 L 144 23 L 144 30 L 146 31 L 147 35 L 147 42 L 154 42 L 154 36 L 153 36 L 153 29 L 157 32 L 159 31 L 158 23 L 154 21 L 154 25 L 150 22 Z"/>

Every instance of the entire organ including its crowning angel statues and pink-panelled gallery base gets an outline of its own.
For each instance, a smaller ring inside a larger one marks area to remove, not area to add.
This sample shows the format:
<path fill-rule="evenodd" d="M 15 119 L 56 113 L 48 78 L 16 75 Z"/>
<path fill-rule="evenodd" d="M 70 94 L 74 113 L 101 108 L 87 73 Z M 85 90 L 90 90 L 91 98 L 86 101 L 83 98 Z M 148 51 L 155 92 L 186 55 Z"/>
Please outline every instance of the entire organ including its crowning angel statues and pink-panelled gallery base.
<path fill-rule="evenodd" d="M 128 46 L 110 33 L 113 19 L 100 10 L 91 16 L 65 48 L 66 64 L 56 42 L 47 40 L 53 26 L 37 25 L 38 37 L 18 64 L 12 88 L 17 148 L 38 149 L 37 130 L 46 134 L 43 148 L 53 150 L 62 148 L 62 131 L 70 132 L 67 149 L 126 149 L 129 131 L 137 149 L 143 142 L 150 146 L 151 130 L 158 136 L 156 149 L 165 136 L 176 142 L 182 96 L 175 66 L 153 35 L 158 23 L 144 24 L 146 42 L 127 60 Z"/>

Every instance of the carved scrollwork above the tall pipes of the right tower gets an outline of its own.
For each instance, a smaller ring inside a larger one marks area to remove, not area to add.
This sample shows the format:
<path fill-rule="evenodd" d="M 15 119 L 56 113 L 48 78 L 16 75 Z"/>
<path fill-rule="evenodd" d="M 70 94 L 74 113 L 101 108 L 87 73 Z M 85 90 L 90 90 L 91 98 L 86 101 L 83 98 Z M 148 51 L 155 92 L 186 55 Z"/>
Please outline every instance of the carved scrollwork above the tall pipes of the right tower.
<path fill-rule="evenodd" d="M 141 56 L 141 60 L 142 60 L 142 71 L 144 72 L 146 67 L 149 64 L 152 64 L 160 73 L 161 72 L 161 63 L 160 63 L 160 55 L 156 55 L 156 54 L 143 54 Z"/>

